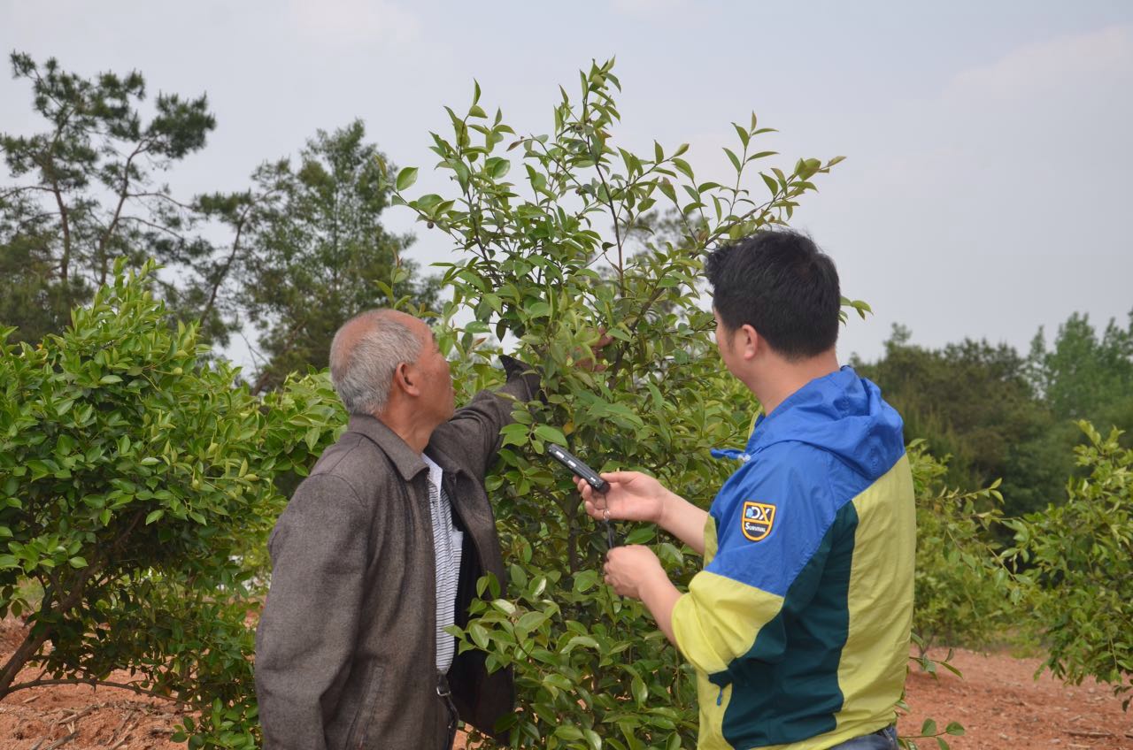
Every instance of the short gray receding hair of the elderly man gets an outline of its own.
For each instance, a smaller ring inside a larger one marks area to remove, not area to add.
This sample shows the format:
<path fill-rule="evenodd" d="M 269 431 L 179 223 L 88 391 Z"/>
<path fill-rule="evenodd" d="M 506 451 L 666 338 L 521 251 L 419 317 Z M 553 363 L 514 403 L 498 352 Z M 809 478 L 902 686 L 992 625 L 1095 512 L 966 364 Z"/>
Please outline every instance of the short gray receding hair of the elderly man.
<path fill-rule="evenodd" d="M 361 335 L 349 330 L 370 324 Z M 331 383 L 352 415 L 376 415 L 390 399 L 393 373 L 416 361 L 421 340 L 390 310 L 367 310 L 349 319 L 331 342 Z"/>

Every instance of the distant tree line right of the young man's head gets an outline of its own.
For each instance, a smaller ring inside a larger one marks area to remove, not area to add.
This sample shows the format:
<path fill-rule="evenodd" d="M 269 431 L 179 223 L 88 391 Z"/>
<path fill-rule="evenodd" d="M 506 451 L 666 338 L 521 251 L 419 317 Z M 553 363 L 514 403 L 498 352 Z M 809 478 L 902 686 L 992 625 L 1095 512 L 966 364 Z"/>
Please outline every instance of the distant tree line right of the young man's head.
<path fill-rule="evenodd" d="M 1049 342 L 1039 329 L 1025 355 L 973 339 L 930 349 L 895 325 L 876 361 L 853 364 L 901 412 L 905 438 L 947 458 L 949 486 L 1002 480 L 1007 515 L 1065 501 L 1079 420 L 1133 443 L 1133 310 L 1101 330 L 1074 313 Z"/>

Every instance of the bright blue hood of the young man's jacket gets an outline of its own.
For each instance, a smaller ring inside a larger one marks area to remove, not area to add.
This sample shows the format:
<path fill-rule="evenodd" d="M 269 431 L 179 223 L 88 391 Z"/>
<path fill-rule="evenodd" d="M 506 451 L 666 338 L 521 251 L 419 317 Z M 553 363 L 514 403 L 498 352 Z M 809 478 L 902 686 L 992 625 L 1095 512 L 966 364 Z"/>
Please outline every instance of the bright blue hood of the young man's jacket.
<path fill-rule="evenodd" d="M 761 416 L 747 454 L 755 457 L 776 443 L 804 443 L 876 479 L 904 454 L 903 428 L 880 389 L 846 366 L 807 383 L 769 416 Z"/>

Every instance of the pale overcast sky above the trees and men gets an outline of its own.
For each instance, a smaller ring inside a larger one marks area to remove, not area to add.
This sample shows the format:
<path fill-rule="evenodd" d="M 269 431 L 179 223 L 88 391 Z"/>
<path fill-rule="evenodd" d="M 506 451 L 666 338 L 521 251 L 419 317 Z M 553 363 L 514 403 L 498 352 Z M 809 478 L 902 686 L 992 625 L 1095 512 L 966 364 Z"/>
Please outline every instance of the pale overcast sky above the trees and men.
<path fill-rule="evenodd" d="M 835 259 L 851 321 L 843 356 L 964 336 L 1025 351 L 1074 310 L 1133 308 L 1133 2 L 254 2 L 0 0 L 0 46 L 66 69 L 140 70 L 151 93 L 207 92 L 219 127 L 176 168 L 179 195 L 239 189 L 316 129 L 363 118 L 398 164 L 428 168 L 442 106 L 499 105 L 546 133 L 557 85 L 616 54 L 620 144 L 692 148 L 724 176 L 729 125 L 755 110 L 767 143 L 847 160 L 794 225 Z M 0 130 L 26 133 L 25 83 L 0 77 Z M 417 188 L 446 191 L 421 170 Z M 414 229 L 411 256 L 446 258 Z M 241 359 L 238 351 L 233 351 Z"/>

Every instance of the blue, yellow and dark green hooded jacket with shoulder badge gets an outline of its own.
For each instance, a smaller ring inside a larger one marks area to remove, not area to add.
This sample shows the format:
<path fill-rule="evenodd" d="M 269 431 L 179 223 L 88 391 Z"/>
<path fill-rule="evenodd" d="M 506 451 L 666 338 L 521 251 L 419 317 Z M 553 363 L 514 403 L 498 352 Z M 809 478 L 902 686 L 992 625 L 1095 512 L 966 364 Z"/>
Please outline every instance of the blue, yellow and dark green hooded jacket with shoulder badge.
<path fill-rule="evenodd" d="M 902 421 L 850 367 L 760 418 L 673 610 L 704 750 L 820 750 L 893 723 L 915 515 Z"/>

